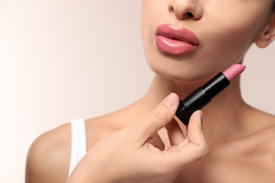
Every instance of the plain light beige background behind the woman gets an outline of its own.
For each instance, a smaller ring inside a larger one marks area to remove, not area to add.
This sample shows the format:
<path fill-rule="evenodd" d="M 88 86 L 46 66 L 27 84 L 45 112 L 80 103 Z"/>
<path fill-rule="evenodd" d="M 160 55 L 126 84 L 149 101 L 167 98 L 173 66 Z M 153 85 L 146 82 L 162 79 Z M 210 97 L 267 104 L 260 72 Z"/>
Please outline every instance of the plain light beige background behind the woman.
<path fill-rule="evenodd" d="M 145 94 L 153 73 L 140 8 L 128 0 L 0 0 L 0 182 L 24 181 L 39 134 Z M 245 101 L 273 114 L 274 50 L 252 46 L 242 75 Z"/>

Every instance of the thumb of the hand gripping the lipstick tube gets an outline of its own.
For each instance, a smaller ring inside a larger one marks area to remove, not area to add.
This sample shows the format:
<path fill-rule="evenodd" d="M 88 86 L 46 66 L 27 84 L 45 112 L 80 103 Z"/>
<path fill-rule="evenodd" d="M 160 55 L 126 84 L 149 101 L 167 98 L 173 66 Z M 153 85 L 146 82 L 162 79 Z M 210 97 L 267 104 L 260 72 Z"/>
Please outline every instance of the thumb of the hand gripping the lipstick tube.
<path fill-rule="evenodd" d="M 171 93 L 167 96 L 157 108 L 148 113 L 145 118 L 135 122 L 133 127 L 138 132 L 139 137 L 145 141 L 152 136 L 152 134 L 165 127 L 174 117 L 178 108 L 178 95 Z"/>

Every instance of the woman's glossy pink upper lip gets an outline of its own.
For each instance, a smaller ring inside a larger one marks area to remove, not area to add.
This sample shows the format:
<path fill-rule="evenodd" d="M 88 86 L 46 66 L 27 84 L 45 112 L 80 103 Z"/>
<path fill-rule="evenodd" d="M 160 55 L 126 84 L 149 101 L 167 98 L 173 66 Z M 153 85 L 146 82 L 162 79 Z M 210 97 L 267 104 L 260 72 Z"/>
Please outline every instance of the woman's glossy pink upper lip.
<path fill-rule="evenodd" d="M 185 28 L 176 28 L 171 24 L 162 24 L 159 25 L 154 34 L 168 37 L 170 39 L 177 39 L 188 44 L 198 45 L 199 39 L 197 36 L 188 29 Z"/>

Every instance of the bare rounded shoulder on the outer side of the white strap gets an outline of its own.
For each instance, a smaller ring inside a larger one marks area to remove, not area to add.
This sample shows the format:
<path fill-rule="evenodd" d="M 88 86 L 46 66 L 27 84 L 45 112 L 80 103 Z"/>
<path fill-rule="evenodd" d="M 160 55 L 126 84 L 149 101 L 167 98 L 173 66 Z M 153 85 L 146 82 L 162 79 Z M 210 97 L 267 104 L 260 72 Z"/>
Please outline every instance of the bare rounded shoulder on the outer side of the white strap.
<path fill-rule="evenodd" d="M 26 182 L 66 182 L 70 156 L 70 123 L 40 135 L 27 154 Z"/>

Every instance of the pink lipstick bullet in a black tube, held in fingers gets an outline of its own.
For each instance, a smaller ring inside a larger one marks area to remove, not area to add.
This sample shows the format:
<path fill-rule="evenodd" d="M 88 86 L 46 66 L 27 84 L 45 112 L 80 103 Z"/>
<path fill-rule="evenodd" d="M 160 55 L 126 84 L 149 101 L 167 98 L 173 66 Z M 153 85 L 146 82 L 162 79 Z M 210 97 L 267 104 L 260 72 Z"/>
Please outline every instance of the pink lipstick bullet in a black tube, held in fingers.
<path fill-rule="evenodd" d="M 224 90 L 231 81 L 245 70 L 245 65 L 234 64 L 224 72 L 219 72 L 211 80 L 197 88 L 185 99 L 180 100 L 176 116 L 186 126 L 189 123 L 190 116 L 197 110 L 202 109 L 219 92 Z"/>

